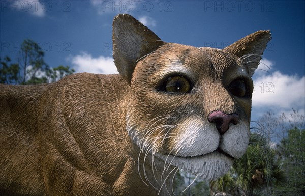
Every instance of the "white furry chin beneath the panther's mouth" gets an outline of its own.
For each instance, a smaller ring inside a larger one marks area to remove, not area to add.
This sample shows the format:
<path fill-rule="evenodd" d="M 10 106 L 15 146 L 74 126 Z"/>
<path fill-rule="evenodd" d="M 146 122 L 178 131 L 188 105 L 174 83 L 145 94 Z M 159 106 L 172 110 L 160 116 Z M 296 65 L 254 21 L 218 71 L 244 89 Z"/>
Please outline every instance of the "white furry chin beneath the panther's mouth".
<path fill-rule="evenodd" d="M 204 180 L 215 180 L 226 174 L 234 162 L 234 158 L 222 150 L 192 157 L 181 157 L 172 154 L 156 153 L 159 159 L 194 174 L 196 178 Z"/>

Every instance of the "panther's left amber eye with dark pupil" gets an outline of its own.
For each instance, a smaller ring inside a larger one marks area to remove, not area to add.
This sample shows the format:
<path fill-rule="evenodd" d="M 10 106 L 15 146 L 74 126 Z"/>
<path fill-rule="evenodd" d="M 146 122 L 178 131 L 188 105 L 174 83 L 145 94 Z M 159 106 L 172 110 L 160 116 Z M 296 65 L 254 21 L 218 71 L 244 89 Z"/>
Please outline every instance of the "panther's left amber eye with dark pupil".
<path fill-rule="evenodd" d="M 188 93 L 191 90 L 191 85 L 185 77 L 173 76 L 165 81 L 164 90 L 172 93 Z"/>

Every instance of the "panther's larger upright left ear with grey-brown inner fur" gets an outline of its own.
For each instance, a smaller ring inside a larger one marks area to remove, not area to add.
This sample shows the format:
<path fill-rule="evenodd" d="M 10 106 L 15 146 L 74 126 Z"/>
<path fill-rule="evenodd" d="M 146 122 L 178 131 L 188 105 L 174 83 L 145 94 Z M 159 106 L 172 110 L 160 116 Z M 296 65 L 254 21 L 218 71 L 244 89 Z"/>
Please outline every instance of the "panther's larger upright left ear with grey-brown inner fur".
<path fill-rule="evenodd" d="M 163 45 L 160 38 L 128 14 L 114 17 L 112 25 L 113 59 L 120 75 L 131 83 L 137 60 Z"/>

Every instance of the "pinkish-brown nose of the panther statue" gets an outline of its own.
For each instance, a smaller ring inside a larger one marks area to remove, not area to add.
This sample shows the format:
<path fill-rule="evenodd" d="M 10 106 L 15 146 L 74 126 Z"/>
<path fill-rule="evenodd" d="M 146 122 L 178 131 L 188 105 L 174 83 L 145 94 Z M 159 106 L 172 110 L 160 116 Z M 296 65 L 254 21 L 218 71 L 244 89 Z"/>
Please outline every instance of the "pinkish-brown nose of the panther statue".
<path fill-rule="evenodd" d="M 229 124 L 233 123 L 236 125 L 238 123 L 239 115 L 237 113 L 226 114 L 221 110 L 212 111 L 208 117 L 208 122 L 214 122 L 218 132 L 223 135 L 229 129 Z"/>

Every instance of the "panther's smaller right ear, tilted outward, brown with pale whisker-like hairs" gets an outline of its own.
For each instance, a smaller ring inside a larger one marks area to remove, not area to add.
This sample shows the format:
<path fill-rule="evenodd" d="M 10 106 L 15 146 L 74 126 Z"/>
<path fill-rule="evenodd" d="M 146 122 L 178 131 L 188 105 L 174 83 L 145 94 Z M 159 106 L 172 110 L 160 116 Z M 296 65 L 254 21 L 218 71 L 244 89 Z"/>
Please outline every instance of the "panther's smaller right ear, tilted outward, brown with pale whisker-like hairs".
<path fill-rule="evenodd" d="M 223 50 L 245 59 L 249 68 L 249 74 L 252 76 L 259 65 L 259 61 L 262 59 L 263 52 L 270 39 L 271 33 L 269 30 L 257 31 L 236 41 Z"/>

